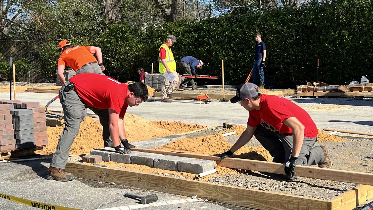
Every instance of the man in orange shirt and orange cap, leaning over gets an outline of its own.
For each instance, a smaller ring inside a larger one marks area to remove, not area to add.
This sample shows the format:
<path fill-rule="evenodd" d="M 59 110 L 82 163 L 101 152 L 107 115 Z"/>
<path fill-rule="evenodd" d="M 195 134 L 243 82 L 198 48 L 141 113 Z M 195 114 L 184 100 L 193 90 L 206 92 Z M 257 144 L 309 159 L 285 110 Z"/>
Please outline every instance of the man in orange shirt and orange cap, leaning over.
<path fill-rule="evenodd" d="M 102 74 L 105 70 L 104 65 L 102 64 L 102 53 L 100 47 L 94 46 L 76 46 L 72 47 L 68 40 L 62 40 L 58 44 L 60 48 L 60 57 L 58 58 L 58 67 L 57 75 L 61 81 L 61 85 L 66 82 L 65 76 L 63 75 L 63 70 L 65 66 L 71 67 L 76 74 L 80 73 L 97 73 Z M 93 56 L 96 54 L 96 58 Z M 83 112 L 82 120 L 87 117 L 87 109 Z"/>

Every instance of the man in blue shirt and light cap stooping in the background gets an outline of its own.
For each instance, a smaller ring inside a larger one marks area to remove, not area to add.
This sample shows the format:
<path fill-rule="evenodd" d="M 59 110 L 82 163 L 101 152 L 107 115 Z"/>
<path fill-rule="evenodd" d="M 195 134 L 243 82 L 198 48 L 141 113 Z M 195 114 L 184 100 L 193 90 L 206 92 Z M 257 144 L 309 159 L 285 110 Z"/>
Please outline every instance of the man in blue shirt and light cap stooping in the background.
<path fill-rule="evenodd" d="M 192 56 L 186 56 L 183 57 L 179 62 L 179 67 L 181 68 L 182 74 L 189 74 L 194 75 L 195 78 L 197 78 L 197 72 L 195 72 L 195 68 L 202 69 L 203 62 L 202 60 L 197 60 L 195 57 Z M 179 90 L 188 90 L 185 86 L 188 84 L 188 82 L 192 85 L 192 90 L 199 90 L 195 82 L 192 78 L 185 78 L 184 81 L 181 82 Z"/>

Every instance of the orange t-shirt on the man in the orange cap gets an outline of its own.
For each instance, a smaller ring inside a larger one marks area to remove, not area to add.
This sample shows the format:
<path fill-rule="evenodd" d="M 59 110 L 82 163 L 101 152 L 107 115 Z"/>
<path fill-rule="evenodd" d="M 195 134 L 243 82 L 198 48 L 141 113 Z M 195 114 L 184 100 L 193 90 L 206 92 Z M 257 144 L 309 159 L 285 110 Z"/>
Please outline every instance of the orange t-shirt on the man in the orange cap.
<path fill-rule="evenodd" d="M 58 65 L 69 66 L 74 71 L 82 68 L 87 63 L 97 62 L 93 54 L 90 53 L 91 46 L 76 46 L 68 48 L 58 58 Z"/>

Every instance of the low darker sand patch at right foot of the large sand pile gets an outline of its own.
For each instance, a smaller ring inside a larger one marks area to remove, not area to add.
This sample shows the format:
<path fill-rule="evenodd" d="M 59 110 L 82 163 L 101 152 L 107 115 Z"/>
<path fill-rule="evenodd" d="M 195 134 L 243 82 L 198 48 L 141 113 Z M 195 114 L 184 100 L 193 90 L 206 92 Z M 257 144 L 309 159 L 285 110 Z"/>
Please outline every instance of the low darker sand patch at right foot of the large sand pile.
<path fill-rule="evenodd" d="M 158 128 L 167 129 L 175 134 L 181 134 L 189 131 L 195 131 L 202 128 L 207 128 L 207 126 L 203 125 L 192 125 L 182 122 L 168 122 L 168 121 L 150 121 L 153 125 L 157 126 Z"/>

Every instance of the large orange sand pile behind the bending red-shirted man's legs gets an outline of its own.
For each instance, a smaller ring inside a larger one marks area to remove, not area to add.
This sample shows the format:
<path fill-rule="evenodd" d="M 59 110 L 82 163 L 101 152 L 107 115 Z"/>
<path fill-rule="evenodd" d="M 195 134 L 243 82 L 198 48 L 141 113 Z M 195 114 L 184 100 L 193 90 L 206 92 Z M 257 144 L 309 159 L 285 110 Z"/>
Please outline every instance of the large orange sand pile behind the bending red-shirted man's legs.
<path fill-rule="evenodd" d="M 170 126 L 164 126 L 162 128 L 162 126 L 155 125 L 149 120 L 131 114 L 125 115 L 124 124 L 129 142 L 143 141 L 178 133 L 175 132 L 174 129 L 171 129 Z M 195 127 L 201 127 L 201 125 L 189 125 L 185 123 L 180 123 L 178 126 L 178 130 L 182 132 L 193 131 Z M 65 124 L 57 127 L 47 127 L 48 145 L 44 147 L 44 152 L 54 153 L 64 128 Z M 89 153 L 92 149 L 104 147 L 102 132 L 103 128 L 98 120 L 86 117 L 80 124 L 79 133 L 70 148 L 70 154 Z"/>

